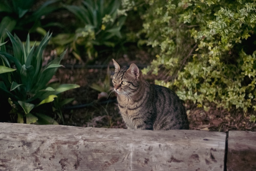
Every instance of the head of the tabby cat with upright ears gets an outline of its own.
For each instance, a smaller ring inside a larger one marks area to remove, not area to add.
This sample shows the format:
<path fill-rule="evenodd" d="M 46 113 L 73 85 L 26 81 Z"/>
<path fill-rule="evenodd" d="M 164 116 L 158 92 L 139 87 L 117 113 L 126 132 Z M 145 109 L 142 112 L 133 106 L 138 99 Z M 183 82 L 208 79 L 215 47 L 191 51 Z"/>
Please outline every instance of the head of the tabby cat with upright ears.
<path fill-rule="evenodd" d="M 113 62 L 115 66 L 115 74 L 112 79 L 114 91 L 122 95 L 131 95 L 136 92 L 142 78 L 142 73 L 137 65 L 131 64 L 129 68 L 127 66 L 120 68 L 114 59 Z"/>

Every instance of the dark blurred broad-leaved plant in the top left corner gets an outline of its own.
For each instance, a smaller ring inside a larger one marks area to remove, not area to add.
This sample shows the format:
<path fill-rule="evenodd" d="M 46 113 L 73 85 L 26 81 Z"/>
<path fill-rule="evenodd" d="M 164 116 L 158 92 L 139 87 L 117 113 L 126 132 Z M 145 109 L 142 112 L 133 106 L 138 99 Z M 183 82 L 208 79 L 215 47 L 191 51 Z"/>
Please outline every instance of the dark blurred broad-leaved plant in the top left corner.
<path fill-rule="evenodd" d="M 60 6 L 57 5 L 59 0 L 50 0 L 46 1 L 37 9 L 32 9 L 32 6 L 35 5 L 35 0 L 1 0 L 0 3 L 0 35 L 7 38 L 5 29 L 9 32 L 13 30 L 25 30 L 26 32 L 41 32 L 42 27 L 51 27 L 59 26 L 61 24 L 58 22 L 48 22 L 47 25 L 41 24 L 41 19 L 46 15 L 54 12 L 57 9 L 60 9 Z"/>

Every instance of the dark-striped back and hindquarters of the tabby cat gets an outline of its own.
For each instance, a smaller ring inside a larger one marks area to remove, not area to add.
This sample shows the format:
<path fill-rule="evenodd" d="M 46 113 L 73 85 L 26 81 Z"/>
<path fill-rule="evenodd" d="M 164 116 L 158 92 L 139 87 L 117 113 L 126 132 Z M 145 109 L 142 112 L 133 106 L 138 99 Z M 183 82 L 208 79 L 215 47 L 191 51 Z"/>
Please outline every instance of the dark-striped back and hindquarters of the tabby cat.
<path fill-rule="evenodd" d="M 150 85 L 152 105 L 157 110 L 154 130 L 189 129 L 186 109 L 178 95 L 169 88 Z"/>

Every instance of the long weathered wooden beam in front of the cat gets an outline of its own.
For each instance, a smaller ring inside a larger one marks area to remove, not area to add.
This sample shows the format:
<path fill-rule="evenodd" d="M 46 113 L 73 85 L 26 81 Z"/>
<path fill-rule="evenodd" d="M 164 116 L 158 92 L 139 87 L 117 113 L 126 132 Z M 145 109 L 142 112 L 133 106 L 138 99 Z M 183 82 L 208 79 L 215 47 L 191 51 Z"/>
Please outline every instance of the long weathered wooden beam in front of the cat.
<path fill-rule="evenodd" d="M 226 133 L 0 123 L 0 170 L 223 170 Z"/>

